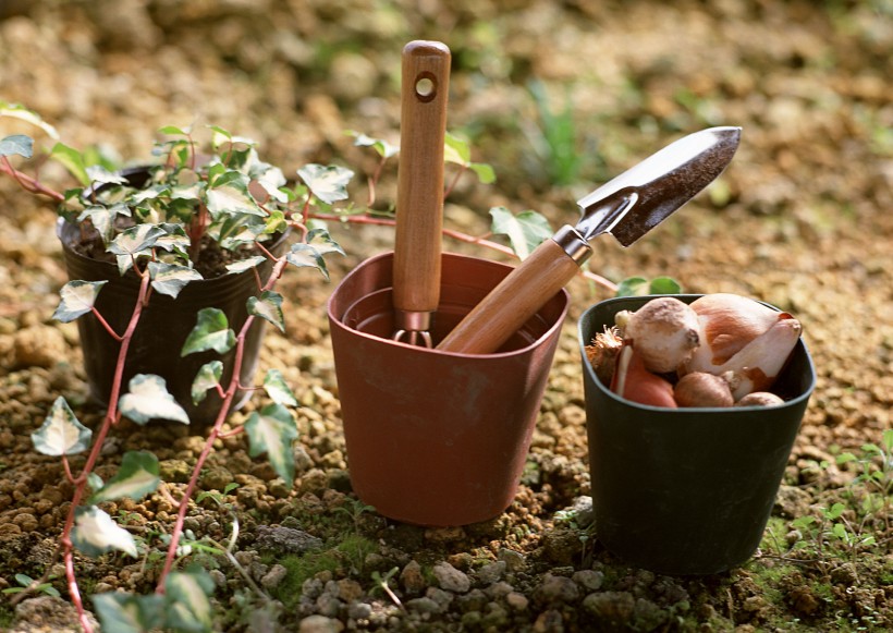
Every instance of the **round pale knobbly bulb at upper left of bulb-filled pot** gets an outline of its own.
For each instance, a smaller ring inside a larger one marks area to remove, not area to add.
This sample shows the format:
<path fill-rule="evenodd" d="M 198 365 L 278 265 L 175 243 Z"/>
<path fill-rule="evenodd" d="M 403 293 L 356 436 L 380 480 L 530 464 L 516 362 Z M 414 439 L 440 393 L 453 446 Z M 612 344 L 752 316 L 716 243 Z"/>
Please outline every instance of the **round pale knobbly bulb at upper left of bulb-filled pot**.
<path fill-rule="evenodd" d="M 623 320 L 624 340 L 632 341 L 649 372 L 675 372 L 700 343 L 697 314 L 671 296 L 652 299 Z"/>

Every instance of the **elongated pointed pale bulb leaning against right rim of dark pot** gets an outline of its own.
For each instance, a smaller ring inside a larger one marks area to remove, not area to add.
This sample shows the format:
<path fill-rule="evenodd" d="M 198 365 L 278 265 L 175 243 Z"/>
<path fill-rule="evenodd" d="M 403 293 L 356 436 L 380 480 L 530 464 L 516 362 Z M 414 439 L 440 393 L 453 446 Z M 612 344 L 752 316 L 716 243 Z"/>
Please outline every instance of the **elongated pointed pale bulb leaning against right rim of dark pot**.
<path fill-rule="evenodd" d="M 787 363 L 802 331 L 800 322 L 788 315 L 788 318 L 776 321 L 729 361 L 719 367 L 712 367 L 710 374 L 727 374 L 732 397 L 736 402 L 754 391 L 768 391 Z"/>

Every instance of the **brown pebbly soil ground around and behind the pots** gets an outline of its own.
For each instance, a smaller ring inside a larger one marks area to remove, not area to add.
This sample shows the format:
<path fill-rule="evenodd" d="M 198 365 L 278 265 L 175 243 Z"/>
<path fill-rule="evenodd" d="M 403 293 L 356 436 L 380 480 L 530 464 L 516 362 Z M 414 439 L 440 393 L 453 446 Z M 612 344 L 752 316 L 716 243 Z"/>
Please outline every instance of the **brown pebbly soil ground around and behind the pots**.
<path fill-rule="evenodd" d="M 568 287 L 573 306 L 506 512 L 424 529 L 365 509 L 350 486 L 325 303 L 346 271 L 391 247 L 392 233 L 335 227 L 347 256 L 331 261 L 328 284 L 289 273 L 280 288 L 288 330 L 268 334 L 261 357 L 303 404 L 294 488 L 249 459 L 236 437 L 221 443 L 203 477 L 205 490 L 238 484 L 223 498 L 229 510 L 208 501 L 191 513 L 196 537 L 227 539 L 230 512 L 242 528 L 237 567 L 193 557 L 213 570 L 216 628 L 893 628 L 890 499 L 858 478 L 864 467 L 883 466 L 861 447 L 891 428 L 893 394 L 889 1 L 2 2 L 0 100 L 39 111 L 70 145 L 137 161 L 160 126 L 196 122 L 259 141 L 286 173 L 335 161 L 368 175 L 375 157 L 344 131 L 397 143 L 400 51 L 420 38 L 451 47 L 449 126 L 497 172 L 490 185 L 463 178 L 448 200 L 447 224 L 469 234 L 485 233 L 487 210 L 499 205 L 536 209 L 554 226 L 573 222 L 577 197 L 669 141 L 743 126 L 742 147 L 715 186 L 628 249 L 600 238 L 590 269 L 614 282 L 666 275 L 687 292 L 754 296 L 803 322 L 817 386 L 766 538 L 741 568 L 704 577 L 629 567 L 599 543 L 598 525 L 587 523 L 575 321 L 611 292 L 583 279 Z M 536 105 L 539 88 L 551 121 Z M 561 139 L 563 123 L 570 141 Z M 393 204 L 395 171 L 392 160 L 379 208 Z M 62 180 L 51 165 L 42 175 Z M 352 188 L 365 199 L 363 176 Z M 86 398 L 76 328 L 51 319 L 66 281 L 54 211 L 9 180 L 0 181 L 0 588 L 10 588 L 16 573 L 39 577 L 53 564 L 71 494 L 58 461 L 34 452 L 30 433 L 60 394 L 89 425 L 101 411 Z M 447 248 L 499 257 L 456 242 Z M 125 423 L 99 473 L 114 473 L 125 450 L 148 449 L 176 487 L 200 445 L 195 429 Z M 839 465 L 846 452 L 858 459 Z M 843 514 L 825 516 L 822 509 L 837 502 Z M 171 523 L 160 495 L 110 510 L 154 547 Z M 290 551 L 270 529 L 316 537 L 318 548 Z M 148 592 L 158 572 L 150 556 L 77 564 L 86 595 Z M 391 586 L 404 608 L 376 581 L 394 568 Z M 13 604 L 4 595 L 0 628 L 77 630 L 63 574 L 49 571 L 62 598 Z"/>

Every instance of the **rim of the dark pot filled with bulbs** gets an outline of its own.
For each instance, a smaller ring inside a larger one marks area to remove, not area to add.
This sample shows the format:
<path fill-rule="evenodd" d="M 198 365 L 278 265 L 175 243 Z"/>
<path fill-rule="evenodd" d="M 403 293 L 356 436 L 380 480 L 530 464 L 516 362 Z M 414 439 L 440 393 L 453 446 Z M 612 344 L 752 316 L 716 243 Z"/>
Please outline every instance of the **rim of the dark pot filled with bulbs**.
<path fill-rule="evenodd" d="M 596 385 L 596 388 L 602 393 L 602 395 L 605 395 L 605 397 L 610 398 L 611 400 L 613 400 L 617 404 L 623 404 L 623 405 L 629 406 L 631 409 L 638 409 L 638 410 L 649 411 L 649 412 L 658 412 L 659 411 L 659 412 L 665 413 L 666 415 L 685 416 L 686 418 L 689 418 L 689 419 L 690 419 L 693 414 L 700 416 L 700 415 L 711 415 L 711 414 L 717 414 L 717 413 L 724 413 L 724 414 L 727 415 L 727 414 L 734 413 L 736 411 L 753 412 L 755 410 L 767 409 L 767 407 L 760 406 L 760 405 L 736 406 L 736 407 L 729 407 L 729 406 L 680 406 L 678 409 L 669 409 L 669 407 L 665 407 L 665 406 L 655 406 L 655 405 L 651 405 L 651 404 L 641 404 L 639 402 L 633 402 L 632 400 L 627 400 L 626 398 L 621 398 L 620 395 L 617 395 L 616 393 L 614 393 L 613 391 L 608 389 L 601 382 L 601 380 L 599 380 L 598 376 L 596 376 L 596 370 L 592 367 L 591 363 L 589 363 L 586 360 L 586 345 L 588 345 L 589 342 L 586 341 L 585 337 L 584 337 L 584 322 L 587 320 L 587 316 L 590 313 L 595 312 L 596 309 L 603 309 L 605 306 L 610 307 L 613 304 L 624 305 L 624 304 L 628 304 L 628 303 L 638 303 L 643 300 L 651 300 L 651 299 L 657 299 L 657 297 L 660 297 L 660 296 L 672 296 L 672 297 L 678 299 L 680 301 L 683 301 L 685 303 L 692 303 L 696 299 L 704 296 L 704 294 L 684 293 L 684 294 L 649 294 L 649 295 L 634 295 L 634 296 L 613 296 L 611 299 L 605 299 L 603 301 L 600 301 L 600 302 L 589 306 L 579 316 L 579 319 L 577 320 L 577 342 L 579 343 L 579 350 L 580 350 L 580 354 L 583 356 L 583 370 L 589 377 L 589 379 Z M 757 301 L 757 302 L 761 303 L 762 305 L 772 308 L 775 312 L 784 312 L 781 308 L 779 308 L 778 306 L 772 305 L 771 303 L 767 303 L 764 301 L 760 301 L 760 300 L 757 300 L 757 299 L 755 299 L 754 301 Z M 809 354 L 809 350 L 807 349 L 806 342 L 803 340 L 803 337 L 800 337 L 799 340 L 797 341 L 797 344 L 794 348 L 794 351 L 792 352 L 792 354 L 796 353 L 798 348 L 803 349 L 803 354 L 805 356 L 806 364 L 807 364 L 807 367 L 809 369 L 809 385 L 807 385 L 807 387 L 803 390 L 803 392 L 800 394 L 795 395 L 794 398 L 791 398 L 790 400 L 785 400 L 784 404 L 779 404 L 778 406 L 770 407 L 772 411 L 778 411 L 780 409 L 785 409 L 785 407 L 788 407 L 788 406 L 799 405 L 800 403 L 803 403 L 804 401 L 809 399 L 809 397 L 812 394 L 812 391 L 816 388 L 816 366 L 812 363 L 812 356 Z"/>

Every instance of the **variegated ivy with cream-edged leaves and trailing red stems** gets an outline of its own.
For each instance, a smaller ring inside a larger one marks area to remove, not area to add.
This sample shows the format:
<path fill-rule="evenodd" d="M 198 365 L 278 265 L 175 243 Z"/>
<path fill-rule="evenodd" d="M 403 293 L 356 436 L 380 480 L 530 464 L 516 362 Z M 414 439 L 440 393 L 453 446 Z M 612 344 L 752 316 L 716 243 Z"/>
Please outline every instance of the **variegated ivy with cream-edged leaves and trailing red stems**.
<path fill-rule="evenodd" d="M 32 123 L 57 141 L 49 157 L 62 162 L 79 186 L 60 193 L 15 167 L 13 160 L 30 159 L 34 154 L 34 141 L 25 135 L 0 139 L 0 172 L 12 176 L 24 190 L 54 200 L 61 217 L 78 224 L 82 241 L 101 240 L 100 253 L 107 253 L 109 259 L 117 261 L 119 272 L 133 271 L 138 277 L 139 293 L 130 319 L 132 325 L 138 321 L 152 292 L 176 297 L 187 283 L 203 278 L 196 268 L 203 240 L 212 241 L 223 251 L 241 252 L 227 265 L 225 273 L 243 272 L 265 259 L 272 260 L 268 280 L 261 283 L 257 276 L 257 294 L 247 302 L 248 318 L 238 332 L 230 327 L 221 311 L 203 308 L 195 315 L 195 328 L 183 345 L 182 355 L 208 350 L 224 354 L 235 349 L 235 366 L 233 378 L 222 384 L 222 363 L 210 361 L 199 369 L 193 382 L 192 397 L 196 403 L 204 400 L 209 390 L 216 390 L 222 404 L 192 477 L 176 501 L 178 518 L 167 539 L 167 558 L 157 592 L 148 596 L 123 593 L 93 596 L 107 631 L 208 630 L 212 583 L 201 571 L 174 571 L 182 550 L 189 500 L 213 442 L 223 433 L 235 393 L 247 387 L 238 384 L 238 376 L 241 346 L 248 328 L 254 319 L 261 318 L 284 331 L 282 296 L 274 291 L 277 281 L 289 266 L 310 267 L 328 277 L 323 256 L 343 254 L 325 228 L 314 224 L 310 215 L 332 212 L 332 205 L 346 199 L 346 185 L 353 172 L 341 167 L 308 165 L 297 170 L 297 180 L 289 185 L 281 169 L 259 159 L 252 141 L 211 126 L 209 147 L 199 150 L 192 130 L 171 126 L 159 131 L 166 139 L 156 145 L 154 154 L 160 160 L 148 168 L 146 182 L 134 186 L 111 166 L 91 160 L 89 153 L 59 143 L 56 130 L 34 112 L 0 102 L 0 115 Z M 296 240 L 284 255 L 277 257 L 265 243 L 286 230 L 293 230 Z M 254 246 L 247 255 L 246 246 Z M 133 557 L 145 553 L 149 544 L 137 543 L 102 504 L 124 497 L 139 500 L 162 486 L 158 459 L 148 451 L 125 453 L 118 474 L 103 482 L 94 466 L 106 436 L 122 417 L 140 425 L 159 418 L 189 423 L 186 411 L 168 392 L 163 378 L 138 374 L 129 385 L 121 384 L 134 327 L 115 332 L 97 311 L 96 300 L 106 283 L 83 280 L 66 283 L 53 314 L 64 322 L 97 318 L 120 343 L 118 381 L 109 394 L 110 404 L 103 421 L 96 431 L 90 430 L 60 397 L 42 426 L 32 436 L 38 452 L 61 459 L 74 488 L 60 546 L 69 593 L 85 631 L 91 631 L 93 625 L 78 589 L 74 550 L 88 557 L 115 551 Z M 266 453 L 277 474 L 291 485 L 294 482 L 292 445 L 297 437 L 292 409 L 297 400 L 278 370 L 266 373 L 262 388 L 271 403 L 252 413 L 244 425 L 229 433 L 245 431 L 249 454 Z M 87 453 L 86 462 L 79 473 L 74 473 L 69 459 L 83 452 Z M 33 581 L 34 586 L 44 586 L 44 580 Z"/>

